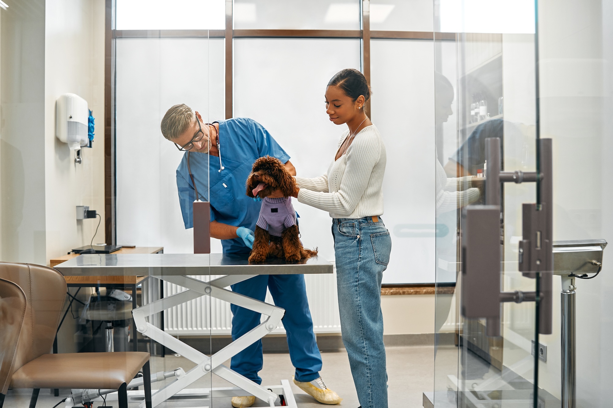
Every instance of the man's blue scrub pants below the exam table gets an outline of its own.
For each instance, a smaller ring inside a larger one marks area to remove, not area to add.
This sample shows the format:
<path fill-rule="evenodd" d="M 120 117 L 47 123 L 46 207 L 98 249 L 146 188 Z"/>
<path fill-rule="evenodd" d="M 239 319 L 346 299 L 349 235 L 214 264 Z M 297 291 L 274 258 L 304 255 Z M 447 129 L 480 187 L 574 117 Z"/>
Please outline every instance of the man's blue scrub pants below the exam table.
<path fill-rule="evenodd" d="M 285 309 L 281 320 L 287 333 L 289 357 L 294 365 L 295 379 L 309 382 L 319 377 L 321 354 L 313 333 L 313 320 L 308 308 L 307 287 L 303 275 L 259 275 L 232 285 L 232 291 L 264 301 L 266 287 L 270 290 L 275 305 Z M 236 340 L 260 324 L 261 314 L 235 304 L 232 310 L 232 340 Z M 232 357 L 230 368 L 258 384 L 257 375 L 262 369 L 262 341 L 258 340 Z"/>

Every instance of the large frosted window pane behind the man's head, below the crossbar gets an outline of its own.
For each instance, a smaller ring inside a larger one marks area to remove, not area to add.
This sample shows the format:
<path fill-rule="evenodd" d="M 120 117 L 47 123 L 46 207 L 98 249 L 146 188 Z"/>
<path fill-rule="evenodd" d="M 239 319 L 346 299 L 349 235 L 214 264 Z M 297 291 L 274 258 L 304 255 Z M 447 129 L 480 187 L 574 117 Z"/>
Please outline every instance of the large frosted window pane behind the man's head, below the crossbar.
<path fill-rule="evenodd" d="M 224 64 L 215 62 L 223 56 L 223 39 L 116 41 L 119 244 L 193 252 L 175 179 L 183 152 L 162 136 L 159 124 L 175 104 L 189 105 L 208 122 L 224 118 Z M 221 252 L 218 243 L 211 240 L 212 252 Z"/>

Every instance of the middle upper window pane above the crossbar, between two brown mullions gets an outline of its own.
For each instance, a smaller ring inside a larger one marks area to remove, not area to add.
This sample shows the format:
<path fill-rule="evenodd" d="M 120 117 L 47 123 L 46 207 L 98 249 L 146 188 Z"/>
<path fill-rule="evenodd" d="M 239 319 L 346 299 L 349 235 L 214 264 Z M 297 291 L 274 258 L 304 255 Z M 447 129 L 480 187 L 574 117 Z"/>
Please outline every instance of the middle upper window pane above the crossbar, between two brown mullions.
<path fill-rule="evenodd" d="M 234 2 L 234 28 L 358 30 L 360 2 L 358 0 L 237 0 Z"/>

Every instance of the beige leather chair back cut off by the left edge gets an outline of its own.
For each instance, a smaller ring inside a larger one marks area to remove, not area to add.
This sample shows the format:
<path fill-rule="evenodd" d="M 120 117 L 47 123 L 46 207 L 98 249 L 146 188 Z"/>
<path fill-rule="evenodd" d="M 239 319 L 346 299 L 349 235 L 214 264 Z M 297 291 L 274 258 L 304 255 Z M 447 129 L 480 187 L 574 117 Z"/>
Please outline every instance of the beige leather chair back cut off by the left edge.
<path fill-rule="evenodd" d="M 26 313 L 26 295 L 21 288 L 0 279 L 0 407 L 9 390 L 13 357 Z"/>

